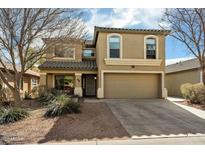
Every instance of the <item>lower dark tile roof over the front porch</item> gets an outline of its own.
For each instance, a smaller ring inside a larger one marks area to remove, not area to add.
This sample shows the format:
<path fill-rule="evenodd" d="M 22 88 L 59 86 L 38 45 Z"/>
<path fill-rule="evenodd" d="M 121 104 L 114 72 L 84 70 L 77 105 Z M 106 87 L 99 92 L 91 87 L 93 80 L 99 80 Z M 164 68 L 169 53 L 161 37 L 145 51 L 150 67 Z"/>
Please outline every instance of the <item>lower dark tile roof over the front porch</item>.
<path fill-rule="evenodd" d="M 46 61 L 39 66 L 39 69 L 66 69 L 66 70 L 97 70 L 94 60 L 87 61 Z"/>

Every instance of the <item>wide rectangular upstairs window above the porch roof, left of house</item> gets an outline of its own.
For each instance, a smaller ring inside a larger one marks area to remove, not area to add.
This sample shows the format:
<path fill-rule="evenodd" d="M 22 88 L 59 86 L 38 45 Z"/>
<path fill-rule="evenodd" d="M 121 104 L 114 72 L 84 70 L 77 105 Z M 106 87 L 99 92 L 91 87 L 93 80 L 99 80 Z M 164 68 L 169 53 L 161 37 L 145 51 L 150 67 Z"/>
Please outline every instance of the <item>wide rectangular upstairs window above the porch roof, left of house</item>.
<path fill-rule="evenodd" d="M 64 48 L 62 50 L 55 50 L 55 57 L 75 59 L 75 48 Z"/>

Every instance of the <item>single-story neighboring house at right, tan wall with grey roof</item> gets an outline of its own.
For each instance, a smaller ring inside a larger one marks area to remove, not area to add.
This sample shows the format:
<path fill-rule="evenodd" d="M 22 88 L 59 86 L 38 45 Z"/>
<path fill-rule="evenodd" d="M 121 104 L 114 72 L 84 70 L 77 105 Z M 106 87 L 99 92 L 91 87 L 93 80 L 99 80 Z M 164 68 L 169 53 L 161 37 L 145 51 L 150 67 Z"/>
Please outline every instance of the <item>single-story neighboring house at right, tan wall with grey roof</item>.
<path fill-rule="evenodd" d="M 180 87 L 182 84 L 202 82 L 202 72 L 198 59 L 168 65 L 165 81 L 168 95 L 181 97 Z"/>

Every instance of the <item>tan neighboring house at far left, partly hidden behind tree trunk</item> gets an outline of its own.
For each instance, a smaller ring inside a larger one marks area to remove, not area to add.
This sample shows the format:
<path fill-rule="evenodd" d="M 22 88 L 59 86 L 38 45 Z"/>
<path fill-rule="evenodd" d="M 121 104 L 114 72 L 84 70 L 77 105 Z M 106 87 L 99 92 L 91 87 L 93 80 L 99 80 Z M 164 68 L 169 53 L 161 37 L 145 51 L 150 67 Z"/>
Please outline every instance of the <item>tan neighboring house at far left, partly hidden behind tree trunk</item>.
<path fill-rule="evenodd" d="M 0 69 L 5 73 L 4 75 L 6 75 L 7 80 L 9 81 L 9 84 L 14 86 L 13 78 L 10 77 L 6 73 L 6 71 L 4 70 L 4 68 L 1 65 L 0 65 Z M 10 70 L 11 75 L 14 75 L 13 74 L 13 69 L 12 69 L 11 65 L 7 64 L 7 69 Z M 19 70 L 19 69 L 17 68 L 17 70 Z M 0 80 L 1 80 L 1 78 L 0 78 Z M 23 79 L 22 79 L 23 82 L 21 82 L 21 92 L 22 92 L 22 95 L 25 92 L 29 92 L 30 93 L 34 87 L 37 87 L 38 84 L 39 84 L 39 80 L 40 80 L 40 74 L 38 72 L 34 72 L 32 70 L 26 71 L 26 73 L 23 75 Z M 1 82 L 1 84 L 3 84 L 3 82 Z M 3 86 L 6 87 L 6 84 L 3 84 Z"/>

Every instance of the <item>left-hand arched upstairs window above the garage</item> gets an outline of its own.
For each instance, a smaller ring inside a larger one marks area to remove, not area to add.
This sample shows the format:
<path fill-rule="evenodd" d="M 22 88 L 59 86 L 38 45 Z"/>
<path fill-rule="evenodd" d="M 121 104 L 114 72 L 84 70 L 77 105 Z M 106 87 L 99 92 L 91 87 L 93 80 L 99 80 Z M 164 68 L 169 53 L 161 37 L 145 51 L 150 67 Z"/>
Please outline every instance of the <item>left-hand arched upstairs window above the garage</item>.
<path fill-rule="evenodd" d="M 121 40 L 119 34 L 108 35 L 108 58 L 121 58 Z"/>

